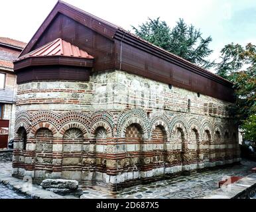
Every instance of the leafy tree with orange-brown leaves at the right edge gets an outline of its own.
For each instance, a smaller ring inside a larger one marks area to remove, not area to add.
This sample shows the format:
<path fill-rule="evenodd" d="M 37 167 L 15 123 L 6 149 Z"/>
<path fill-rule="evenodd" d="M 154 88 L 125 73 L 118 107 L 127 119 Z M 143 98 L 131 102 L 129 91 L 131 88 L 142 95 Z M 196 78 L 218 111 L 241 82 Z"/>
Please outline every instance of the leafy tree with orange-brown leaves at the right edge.
<path fill-rule="evenodd" d="M 246 137 L 251 134 L 249 125 L 256 131 L 256 46 L 249 43 L 243 47 L 231 43 L 221 53 L 222 62 L 218 64 L 217 74 L 234 84 L 236 104 L 229 112 L 241 129 L 246 129 Z"/>

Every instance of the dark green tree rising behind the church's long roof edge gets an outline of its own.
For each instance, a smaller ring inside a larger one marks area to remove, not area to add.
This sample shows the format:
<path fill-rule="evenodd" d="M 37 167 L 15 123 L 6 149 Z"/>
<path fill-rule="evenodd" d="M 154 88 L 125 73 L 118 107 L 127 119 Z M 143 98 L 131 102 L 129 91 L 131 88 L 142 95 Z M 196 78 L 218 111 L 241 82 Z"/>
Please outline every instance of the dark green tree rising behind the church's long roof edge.
<path fill-rule="evenodd" d="M 183 19 L 179 19 L 172 29 L 165 21 L 159 19 L 149 19 L 149 21 L 139 25 L 139 28 L 132 26 L 135 34 L 202 68 L 215 66 L 214 62 L 206 60 L 212 54 L 212 50 L 208 47 L 212 42 L 210 36 L 205 39 L 202 38 L 200 30 L 197 30 L 193 25 L 186 25 Z"/>

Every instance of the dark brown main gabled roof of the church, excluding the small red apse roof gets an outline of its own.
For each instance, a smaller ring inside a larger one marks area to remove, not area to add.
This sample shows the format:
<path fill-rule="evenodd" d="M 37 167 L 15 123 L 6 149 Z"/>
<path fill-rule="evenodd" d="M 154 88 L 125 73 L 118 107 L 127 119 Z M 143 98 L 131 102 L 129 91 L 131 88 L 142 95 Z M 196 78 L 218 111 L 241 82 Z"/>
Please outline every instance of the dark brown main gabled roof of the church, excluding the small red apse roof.
<path fill-rule="evenodd" d="M 230 81 L 63 1 L 56 3 L 19 57 L 34 54 L 34 50 L 56 38 L 76 44 L 81 50 L 94 56 L 94 62 L 90 58 L 86 59 L 86 67 L 93 67 L 94 72 L 123 70 L 225 101 L 233 101 L 233 84 Z M 52 56 L 54 57 L 56 56 Z M 67 63 L 64 56 L 59 57 L 62 58 L 62 65 L 72 66 L 74 60 Z M 38 60 L 31 63 L 29 58 Z M 48 63 L 46 56 L 34 55 L 29 58 L 16 60 L 15 71 L 29 65 L 43 66 Z M 50 65 L 57 64 L 60 63 L 55 61 Z M 82 66 L 81 61 L 76 61 L 74 66 Z"/>

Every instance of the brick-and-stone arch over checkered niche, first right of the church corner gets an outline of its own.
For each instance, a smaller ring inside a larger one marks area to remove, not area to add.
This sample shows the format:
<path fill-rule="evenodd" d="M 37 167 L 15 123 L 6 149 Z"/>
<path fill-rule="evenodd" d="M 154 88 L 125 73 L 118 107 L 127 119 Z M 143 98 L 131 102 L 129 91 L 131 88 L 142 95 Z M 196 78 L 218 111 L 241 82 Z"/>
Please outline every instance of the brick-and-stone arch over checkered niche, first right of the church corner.
<path fill-rule="evenodd" d="M 143 123 L 142 119 L 139 119 L 139 117 L 131 117 L 127 121 L 125 121 L 124 125 L 121 128 L 121 138 L 125 138 L 127 127 L 130 125 L 137 124 L 139 127 L 141 127 L 141 134 L 143 138 L 148 138 L 148 131 L 145 123 Z"/>

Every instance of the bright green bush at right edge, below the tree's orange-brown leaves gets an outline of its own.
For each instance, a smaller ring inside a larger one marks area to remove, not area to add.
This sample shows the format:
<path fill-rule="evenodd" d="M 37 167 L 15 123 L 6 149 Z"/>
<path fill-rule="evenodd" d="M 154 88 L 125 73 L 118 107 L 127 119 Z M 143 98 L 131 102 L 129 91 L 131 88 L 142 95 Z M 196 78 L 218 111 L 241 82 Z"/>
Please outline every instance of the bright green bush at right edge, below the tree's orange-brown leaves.
<path fill-rule="evenodd" d="M 243 125 L 241 129 L 245 132 L 246 140 L 256 140 L 256 115 L 251 115 Z"/>

